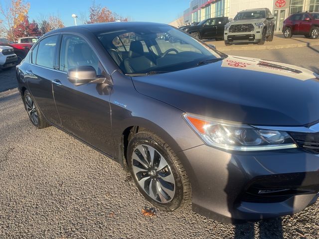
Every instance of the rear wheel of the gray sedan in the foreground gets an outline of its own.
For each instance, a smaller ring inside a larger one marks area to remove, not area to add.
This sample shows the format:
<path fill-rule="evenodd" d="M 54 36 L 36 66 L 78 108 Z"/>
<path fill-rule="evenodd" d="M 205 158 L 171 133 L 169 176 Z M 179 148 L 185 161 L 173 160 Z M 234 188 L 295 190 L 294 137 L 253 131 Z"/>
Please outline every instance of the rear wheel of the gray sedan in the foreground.
<path fill-rule="evenodd" d="M 30 102 L 31 99 L 31 102 Z M 31 94 L 26 90 L 23 95 L 23 102 L 25 110 L 29 116 L 29 119 L 31 123 L 37 127 L 37 128 L 45 128 L 50 126 L 48 122 L 44 119 L 44 116 L 42 115 L 41 111 L 39 110 L 39 107 L 35 103 L 33 97 Z M 32 108 L 32 111 L 30 112 L 30 109 Z M 36 119 L 35 120 L 35 115 Z"/>

